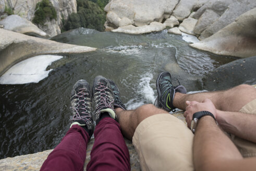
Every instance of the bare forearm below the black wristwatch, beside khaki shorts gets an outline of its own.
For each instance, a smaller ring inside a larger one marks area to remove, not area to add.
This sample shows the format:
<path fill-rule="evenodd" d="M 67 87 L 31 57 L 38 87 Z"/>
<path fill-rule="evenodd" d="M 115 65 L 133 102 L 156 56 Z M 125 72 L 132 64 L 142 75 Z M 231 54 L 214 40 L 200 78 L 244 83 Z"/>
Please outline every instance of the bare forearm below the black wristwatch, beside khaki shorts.
<path fill-rule="evenodd" d="M 218 128 L 211 116 L 202 117 L 198 123 L 193 142 L 193 158 L 197 171 L 225 170 L 228 163 L 242 160 L 236 146 Z"/>

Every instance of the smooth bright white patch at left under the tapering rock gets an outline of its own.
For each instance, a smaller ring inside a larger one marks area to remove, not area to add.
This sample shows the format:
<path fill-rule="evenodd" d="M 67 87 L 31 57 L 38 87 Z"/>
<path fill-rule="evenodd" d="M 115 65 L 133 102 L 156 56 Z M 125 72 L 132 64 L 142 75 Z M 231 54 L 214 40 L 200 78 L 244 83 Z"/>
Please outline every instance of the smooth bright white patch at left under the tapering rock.
<path fill-rule="evenodd" d="M 52 62 L 63 58 L 57 55 L 39 55 L 14 65 L 0 77 L 0 84 L 38 83 L 48 77 L 50 70 L 45 70 Z"/>

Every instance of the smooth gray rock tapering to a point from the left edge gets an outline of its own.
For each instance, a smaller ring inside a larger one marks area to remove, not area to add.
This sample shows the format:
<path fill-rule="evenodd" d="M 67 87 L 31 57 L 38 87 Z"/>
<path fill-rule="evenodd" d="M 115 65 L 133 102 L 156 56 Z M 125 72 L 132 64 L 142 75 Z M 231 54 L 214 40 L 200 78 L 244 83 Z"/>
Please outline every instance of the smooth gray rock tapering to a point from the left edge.
<path fill-rule="evenodd" d="M 58 43 L 0 29 L 0 76 L 21 60 L 43 54 L 69 54 L 95 51 L 96 48 Z"/>

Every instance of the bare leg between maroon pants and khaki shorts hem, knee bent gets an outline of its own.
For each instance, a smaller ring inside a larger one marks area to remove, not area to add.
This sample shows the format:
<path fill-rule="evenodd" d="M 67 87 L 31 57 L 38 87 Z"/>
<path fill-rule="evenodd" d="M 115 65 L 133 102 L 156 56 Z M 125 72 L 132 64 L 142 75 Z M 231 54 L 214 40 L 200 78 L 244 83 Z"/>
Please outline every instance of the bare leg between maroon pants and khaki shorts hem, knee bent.
<path fill-rule="evenodd" d="M 163 109 L 156 108 L 153 104 L 146 104 L 140 106 L 135 110 L 124 111 L 121 108 L 116 108 L 116 115 L 119 124 L 121 125 L 121 129 L 123 131 L 123 135 L 129 140 L 132 139 L 133 134 L 137 126 L 147 117 L 156 114 L 167 113 Z"/>

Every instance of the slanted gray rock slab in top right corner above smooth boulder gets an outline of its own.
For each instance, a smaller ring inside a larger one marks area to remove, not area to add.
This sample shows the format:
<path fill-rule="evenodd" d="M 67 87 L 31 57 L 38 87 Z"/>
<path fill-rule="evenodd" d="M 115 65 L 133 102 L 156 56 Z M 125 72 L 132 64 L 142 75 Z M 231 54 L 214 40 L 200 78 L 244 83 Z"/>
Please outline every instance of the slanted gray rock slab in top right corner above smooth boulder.
<path fill-rule="evenodd" d="M 217 13 L 221 17 L 218 18 L 218 20 L 216 20 L 215 22 L 213 22 L 211 26 L 205 29 L 201 33 L 199 39 L 203 40 L 205 38 L 208 38 L 212 34 L 229 25 L 231 22 L 235 21 L 235 19 L 238 16 L 255 7 L 255 0 L 222 0 L 215 2 L 213 6 L 211 6 L 211 8 L 214 9 L 213 11 L 215 11 L 215 13 Z"/>

